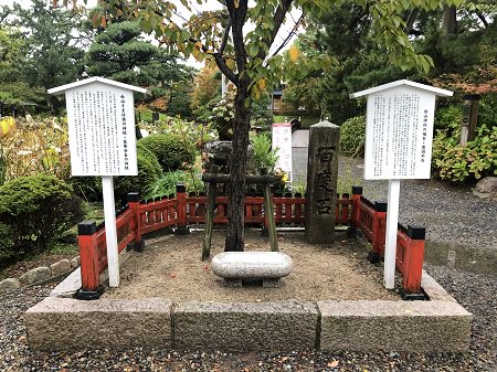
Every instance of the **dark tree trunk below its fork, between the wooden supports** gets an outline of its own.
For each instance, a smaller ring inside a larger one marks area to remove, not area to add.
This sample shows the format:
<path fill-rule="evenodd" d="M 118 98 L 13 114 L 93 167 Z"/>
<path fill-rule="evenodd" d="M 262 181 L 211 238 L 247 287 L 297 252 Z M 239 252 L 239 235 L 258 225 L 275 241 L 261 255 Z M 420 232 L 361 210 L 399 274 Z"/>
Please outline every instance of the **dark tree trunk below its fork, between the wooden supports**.
<path fill-rule="evenodd" d="M 244 248 L 244 198 L 248 148 L 250 107 L 245 107 L 248 82 L 242 78 L 235 96 L 235 117 L 231 149 L 230 183 L 228 187 L 228 230 L 225 252 L 243 252 Z"/>

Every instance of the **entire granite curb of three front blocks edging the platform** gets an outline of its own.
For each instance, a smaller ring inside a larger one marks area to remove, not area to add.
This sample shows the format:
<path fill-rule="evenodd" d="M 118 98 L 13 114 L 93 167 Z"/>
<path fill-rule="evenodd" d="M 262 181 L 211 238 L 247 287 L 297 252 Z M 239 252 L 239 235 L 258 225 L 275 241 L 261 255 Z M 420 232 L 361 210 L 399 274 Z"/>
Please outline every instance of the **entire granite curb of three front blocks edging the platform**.
<path fill-rule="evenodd" d="M 33 350 L 348 350 L 453 352 L 469 344 L 473 316 L 423 273 L 430 301 L 82 301 L 75 270 L 25 313 Z M 121 320 L 121 321 L 120 321 Z M 114 334 L 114 336 L 112 336 Z M 139 340 L 139 342 L 137 341 Z"/>

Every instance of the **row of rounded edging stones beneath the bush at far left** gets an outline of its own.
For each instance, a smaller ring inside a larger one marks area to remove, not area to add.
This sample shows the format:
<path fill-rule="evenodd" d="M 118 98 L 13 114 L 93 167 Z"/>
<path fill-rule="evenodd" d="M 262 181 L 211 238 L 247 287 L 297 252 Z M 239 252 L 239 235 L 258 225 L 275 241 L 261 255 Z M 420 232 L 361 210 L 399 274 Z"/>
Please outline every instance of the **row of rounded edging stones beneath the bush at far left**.
<path fill-rule="evenodd" d="M 6 278 L 3 280 L 0 280 L 0 294 L 8 294 L 14 290 L 19 290 L 22 287 L 43 285 L 60 279 L 72 273 L 77 267 L 80 267 L 80 256 L 76 256 L 71 261 L 57 261 L 50 265 L 50 267 L 35 267 L 21 275 L 19 278 Z"/>

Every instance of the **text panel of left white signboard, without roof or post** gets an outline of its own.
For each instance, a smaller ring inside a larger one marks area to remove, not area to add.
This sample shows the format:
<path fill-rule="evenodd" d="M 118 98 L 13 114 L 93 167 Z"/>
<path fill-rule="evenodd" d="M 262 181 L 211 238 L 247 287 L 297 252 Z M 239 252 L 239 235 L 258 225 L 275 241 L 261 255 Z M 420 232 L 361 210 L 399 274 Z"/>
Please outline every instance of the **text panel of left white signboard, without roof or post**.
<path fill-rule="evenodd" d="M 133 91 L 95 82 L 65 95 L 72 176 L 137 176 Z"/>

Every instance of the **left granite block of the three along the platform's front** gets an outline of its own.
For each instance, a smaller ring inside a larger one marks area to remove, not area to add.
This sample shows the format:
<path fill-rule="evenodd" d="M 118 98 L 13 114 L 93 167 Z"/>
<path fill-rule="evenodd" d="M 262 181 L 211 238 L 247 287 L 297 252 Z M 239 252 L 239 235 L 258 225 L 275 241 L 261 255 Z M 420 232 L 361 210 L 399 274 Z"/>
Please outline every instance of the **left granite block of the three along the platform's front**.
<path fill-rule="evenodd" d="M 167 299 L 95 300 L 47 297 L 25 312 L 33 350 L 170 348 Z"/>

